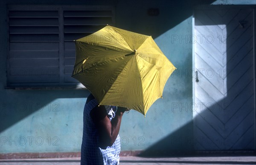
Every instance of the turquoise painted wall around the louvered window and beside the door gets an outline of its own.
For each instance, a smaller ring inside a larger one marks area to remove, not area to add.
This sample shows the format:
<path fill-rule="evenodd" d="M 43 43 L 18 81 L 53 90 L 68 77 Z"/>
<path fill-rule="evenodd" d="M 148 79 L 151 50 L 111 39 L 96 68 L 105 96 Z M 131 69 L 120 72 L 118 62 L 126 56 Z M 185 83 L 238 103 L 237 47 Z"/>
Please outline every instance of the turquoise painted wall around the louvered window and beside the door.
<path fill-rule="evenodd" d="M 206 0 L 211 4 L 214 0 Z M 222 2 L 222 1 L 220 1 Z M 220 2 L 215 2 L 220 4 Z M 229 1 L 233 2 L 233 1 Z M 236 1 L 237 3 L 238 1 Z M 242 4 L 242 1 L 239 1 Z M 189 3 L 189 4 L 188 4 Z M 82 114 L 89 92 L 83 89 L 6 89 L 6 5 L 113 5 L 116 27 L 151 35 L 177 67 L 146 117 L 131 110 L 119 132 L 125 150 L 192 150 L 192 6 L 187 0 L 2 0 L 0 2 L 0 153 L 80 151 Z M 247 0 L 246 3 L 255 1 Z M 158 16 L 148 16 L 158 8 Z M 183 141 L 182 141 L 183 140 Z"/>

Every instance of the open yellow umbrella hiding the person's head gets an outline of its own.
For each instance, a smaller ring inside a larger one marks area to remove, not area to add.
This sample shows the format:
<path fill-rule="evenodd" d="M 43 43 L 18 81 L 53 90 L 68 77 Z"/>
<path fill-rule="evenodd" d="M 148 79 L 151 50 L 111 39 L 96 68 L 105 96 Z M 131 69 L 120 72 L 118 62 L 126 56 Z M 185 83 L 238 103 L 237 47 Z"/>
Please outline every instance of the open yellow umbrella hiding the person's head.
<path fill-rule="evenodd" d="M 143 115 L 162 97 L 176 69 L 151 36 L 107 25 L 77 39 L 73 78 L 99 105 L 122 106 Z"/>

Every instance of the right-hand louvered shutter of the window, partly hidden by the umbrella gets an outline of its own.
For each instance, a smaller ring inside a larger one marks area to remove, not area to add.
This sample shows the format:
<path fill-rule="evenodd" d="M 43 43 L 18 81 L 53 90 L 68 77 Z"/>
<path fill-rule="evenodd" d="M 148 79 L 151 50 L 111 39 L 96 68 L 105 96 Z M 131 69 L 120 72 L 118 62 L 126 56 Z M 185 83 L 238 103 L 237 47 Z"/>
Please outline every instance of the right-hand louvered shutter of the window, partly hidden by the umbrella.
<path fill-rule="evenodd" d="M 113 24 L 113 11 L 111 8 L 87 8 L 87 10 L 73 10 L 64 8 L 64 61 L 65 82 L 76 81 L 71 77 L 75 63 L 74 39 L 92 34 L 107 24 Z"/>

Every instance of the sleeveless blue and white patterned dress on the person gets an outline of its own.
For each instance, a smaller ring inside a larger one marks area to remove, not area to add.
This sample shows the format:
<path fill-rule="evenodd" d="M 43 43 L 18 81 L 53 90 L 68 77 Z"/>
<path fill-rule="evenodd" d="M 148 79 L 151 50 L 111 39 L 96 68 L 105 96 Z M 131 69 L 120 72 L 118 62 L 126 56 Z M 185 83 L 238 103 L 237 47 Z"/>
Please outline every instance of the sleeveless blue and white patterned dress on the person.
<path fill-rule="evenodd" d="M 96 99 L 92 99 L 84 106 L 84 129 L 81 146 L 81 165 L 119 165 L 121 149 L 120 137 L 110 147 L 99 147 L 99 133 L 90 117 L 90 111 L 98 105 Z M 115 117 L 116 106 L 105 106 L 109 119 Z"/>

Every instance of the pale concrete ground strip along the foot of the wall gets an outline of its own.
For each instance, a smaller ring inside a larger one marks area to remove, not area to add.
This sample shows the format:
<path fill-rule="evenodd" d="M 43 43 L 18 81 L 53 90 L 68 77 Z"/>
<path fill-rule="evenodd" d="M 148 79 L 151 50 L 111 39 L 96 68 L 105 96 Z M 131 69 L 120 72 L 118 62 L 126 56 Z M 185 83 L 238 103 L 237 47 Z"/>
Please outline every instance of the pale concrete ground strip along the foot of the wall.
<path fill-rule="evenodd" d="M 80 165 L 80 158 L 0 159 L 0 165 Z M 256 156 L 120 157 L 120 165 L 256 165 Z"/>

